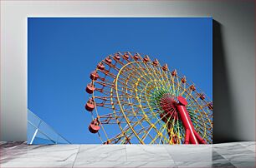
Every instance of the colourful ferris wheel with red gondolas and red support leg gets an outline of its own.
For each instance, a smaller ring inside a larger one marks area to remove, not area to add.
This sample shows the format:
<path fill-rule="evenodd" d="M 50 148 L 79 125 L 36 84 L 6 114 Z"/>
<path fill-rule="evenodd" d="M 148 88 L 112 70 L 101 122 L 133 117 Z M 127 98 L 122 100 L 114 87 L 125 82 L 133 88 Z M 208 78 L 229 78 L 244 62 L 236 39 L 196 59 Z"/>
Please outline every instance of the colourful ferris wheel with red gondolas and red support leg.
<path fill-rule="evenodd" d="M 103 144 L 211 144 L 212 101 L 176 69 L 136 52 L 90 73 L 89 131 Z"/>

